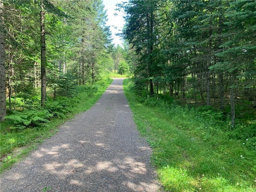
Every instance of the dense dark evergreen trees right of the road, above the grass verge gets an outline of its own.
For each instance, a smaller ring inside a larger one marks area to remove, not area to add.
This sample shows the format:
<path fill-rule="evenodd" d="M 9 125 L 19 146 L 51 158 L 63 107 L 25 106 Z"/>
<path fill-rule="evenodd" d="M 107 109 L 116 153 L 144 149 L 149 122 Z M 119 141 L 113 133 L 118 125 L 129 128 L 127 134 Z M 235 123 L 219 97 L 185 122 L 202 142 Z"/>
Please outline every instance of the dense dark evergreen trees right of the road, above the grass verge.
<path fill-rule="evenodd" d="M 239 101 L 256 106 L 255 1 L 130 0 L 119 8 L 139 56 L 136 88 L 230 108 L 232 126 Z"/>

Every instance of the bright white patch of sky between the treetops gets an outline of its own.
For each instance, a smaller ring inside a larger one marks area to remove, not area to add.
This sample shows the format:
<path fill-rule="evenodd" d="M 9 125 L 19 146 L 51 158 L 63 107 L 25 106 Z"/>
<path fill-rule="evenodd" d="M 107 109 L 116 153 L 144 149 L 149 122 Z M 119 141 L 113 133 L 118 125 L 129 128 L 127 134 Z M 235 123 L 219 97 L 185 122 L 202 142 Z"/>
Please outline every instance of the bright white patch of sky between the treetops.
<path fill-rule="evenodd" d="M 108 21 L 106 22 L 107 26 L 110 26 L 110 30 L 112 32 L 112 43 L 116 46 L 117 44 L 122 44 L 122 40 L 119 36 L 115 34 L 120 33 L 124 26 L 124 18 L 123 13 L 115 11 L 116 4 L 122 3 L 125 0 L 103 0 L 103 4 L 105 6 L 105 10 L 107 10 Z M 117 13 L 117 16 L 114 16 L 114 13 Z"/>

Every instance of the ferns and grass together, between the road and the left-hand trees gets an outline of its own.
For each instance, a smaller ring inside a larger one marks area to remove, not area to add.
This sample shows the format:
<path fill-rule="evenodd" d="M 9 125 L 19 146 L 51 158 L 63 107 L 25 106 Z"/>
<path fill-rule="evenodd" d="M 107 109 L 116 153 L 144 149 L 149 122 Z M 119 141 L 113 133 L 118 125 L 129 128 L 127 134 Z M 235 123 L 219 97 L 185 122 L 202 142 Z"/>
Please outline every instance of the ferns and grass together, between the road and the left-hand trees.
<path fill-rule="evenodd" d="M 27 108 L 9 113 L 0 124 L 0 171 L 10 168 L 45 138 L 52 136 L 65 120 L 93 106 L 111 82 L 112 79 L 104 78 L 94 85 L 77 86 L 71 97 L 59 96 L 56 100 L 48 97 L 44 108 L 35 104 L 40 102 L 34 102 L 31 108 L 27 105 Z"/>

